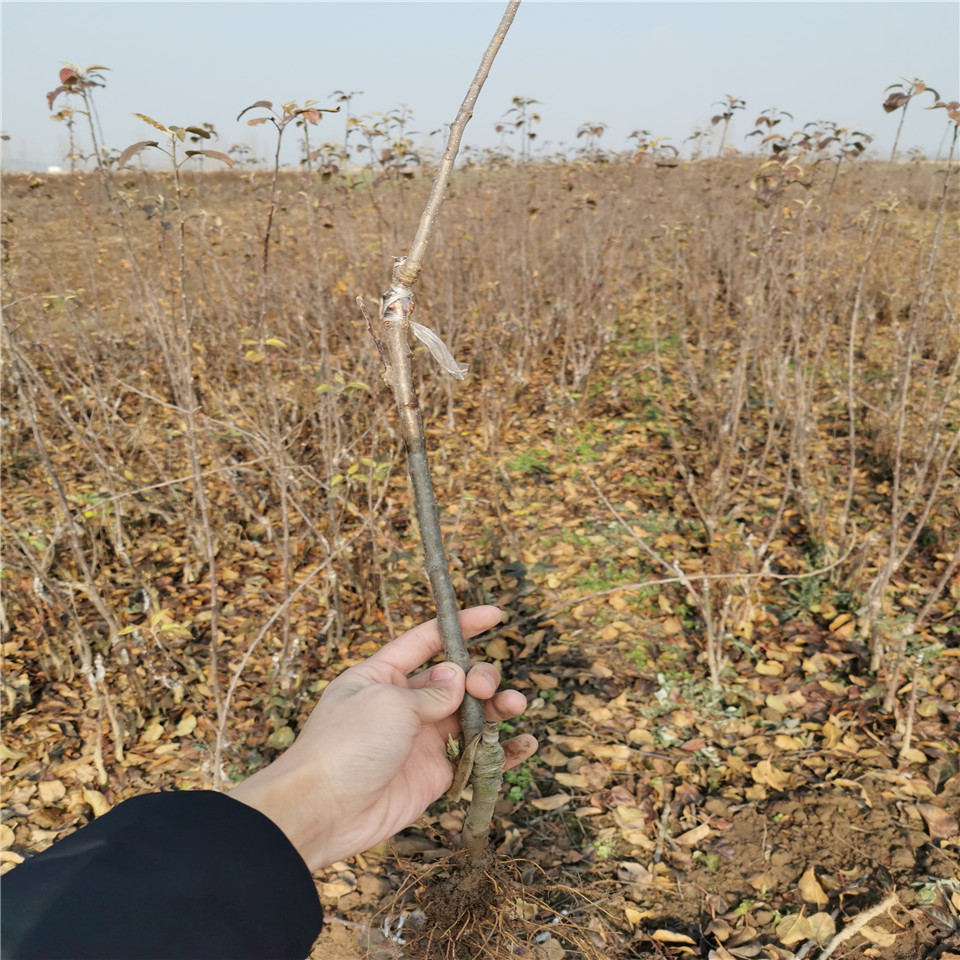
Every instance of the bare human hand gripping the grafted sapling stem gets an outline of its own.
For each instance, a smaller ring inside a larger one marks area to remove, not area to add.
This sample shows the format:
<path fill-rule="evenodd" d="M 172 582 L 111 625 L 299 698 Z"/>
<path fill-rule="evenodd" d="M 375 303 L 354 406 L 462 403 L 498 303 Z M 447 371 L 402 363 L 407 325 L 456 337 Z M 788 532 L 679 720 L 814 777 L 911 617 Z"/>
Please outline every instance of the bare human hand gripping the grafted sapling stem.
<path fill-rule="evenodd" d="M 496 607 L 460 613 L 465 638 L 500 622 Z M 269 767 L 230 796 L 280 827 L 311 870 L 361 853 L 409 826 L 453 779 L 448 737 L 460 732 L 464 690 L 485 701 L 488 720 L 526 709 L 518 690 L 497 693 L 500 674 L 454 663 L 408 676 L 443 649 L 436 620 L 408 630 L 323 691 L 300 736 Z M 504 769 L 537 750 L 522 735 L 503 744 Z"/>

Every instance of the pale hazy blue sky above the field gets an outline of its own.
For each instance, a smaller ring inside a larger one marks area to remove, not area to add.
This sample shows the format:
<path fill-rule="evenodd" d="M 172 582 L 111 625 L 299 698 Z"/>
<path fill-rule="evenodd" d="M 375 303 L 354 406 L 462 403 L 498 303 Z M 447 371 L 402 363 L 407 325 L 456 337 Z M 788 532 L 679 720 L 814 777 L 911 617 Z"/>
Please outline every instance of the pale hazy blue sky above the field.
<path fill-rule="evenodd" d="M 272 128 L 235 118 L 257 100 L 316 100 L 357 93 L 357 115 L 413 111 L 408 129 L 420 147 L 440 148 L 504 5 L 499 2 L 42 2 L 4 0 L 2 129 L 5 170 L 66 166 L 66 130 L 50 119 L 45 95 L 64 61 L 103 64 L 95 91 L 104 140 L 123 149 L 154 132 L 133 116 L 164 124 L 216 127 L 209 144 L 242 142 L 272 156 Z M 746 101 L 727 143 L 746 139 L 770 107 L 793 114 L 778 129 L 834 121 L 872 134 L 873 155 L 888 157 L 900 114 L 881 109 L 884 88 L 924 80 L 944 100 L 960 99 L 960 4 L 956 2 L 670 3 L 525 0 L 494 63 L 465 144 L 497 147 L 496 125 L 515 96 L 533 98 L 541 122 L 536 151 L 552 155 L 584 141 L 577 129 L 604 123 L 600 145 L 619 151 L 637 129 L 687 138 L 709 128 L 717 101 Z M 78 98 L 61 97 L 55 109 Z M 921 95 L 907 112 L 900 147 L 933 157 L 946 142 L 945 111 Z M 81 118 L 82 120 L 83 118 Z M 787 131 L 789 132 L 789 130 Z M 343 115 L 311 130 L 314 145 L 342 141 Z M 288 130 L 282 159 L 298 159 L 299 131 Z M 83 143 L 87 141 L 82 140 Z M 715 142 L 714 142 L 715 143 Z M 709 149 L 713 149 L 710 147 Z M 160 158 L 162 159 L 162 158 Z"/>

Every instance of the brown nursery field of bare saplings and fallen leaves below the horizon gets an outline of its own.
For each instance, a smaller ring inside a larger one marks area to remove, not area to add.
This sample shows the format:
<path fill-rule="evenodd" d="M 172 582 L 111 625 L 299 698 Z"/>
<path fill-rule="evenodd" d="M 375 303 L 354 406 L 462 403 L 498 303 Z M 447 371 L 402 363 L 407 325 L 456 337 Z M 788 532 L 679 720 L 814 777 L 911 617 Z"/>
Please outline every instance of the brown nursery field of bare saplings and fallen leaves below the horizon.
<path fill-rule="evenodd" d="M 415 318 L 469 372 L 414 369 L 541 749 L 485 954 L 420 935 L 442 799 L 317 875 L 314 957 L 960 954 L 956 168 L 814 159 L 455 173 Z M 211 166 L 3 180 L 4 871 L 433 615 L 356 304 L 431 171 Z"/>

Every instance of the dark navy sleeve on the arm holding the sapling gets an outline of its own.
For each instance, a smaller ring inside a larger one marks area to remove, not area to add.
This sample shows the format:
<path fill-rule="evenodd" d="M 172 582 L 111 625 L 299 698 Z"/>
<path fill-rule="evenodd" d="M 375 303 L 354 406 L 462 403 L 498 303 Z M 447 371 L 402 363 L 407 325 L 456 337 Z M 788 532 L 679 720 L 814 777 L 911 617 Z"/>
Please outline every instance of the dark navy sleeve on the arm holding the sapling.
<path fill-rule="evenodd" d="M 3 960 L 303 960 L 323 911 L 273 821 L 221 793 L 135 797 L 2 881 Z"/>

